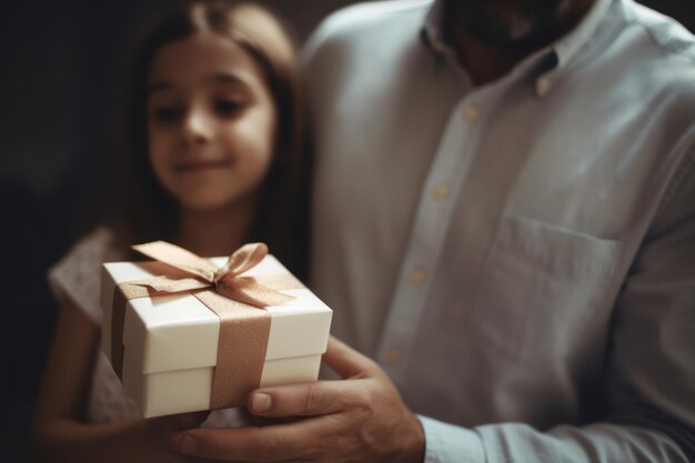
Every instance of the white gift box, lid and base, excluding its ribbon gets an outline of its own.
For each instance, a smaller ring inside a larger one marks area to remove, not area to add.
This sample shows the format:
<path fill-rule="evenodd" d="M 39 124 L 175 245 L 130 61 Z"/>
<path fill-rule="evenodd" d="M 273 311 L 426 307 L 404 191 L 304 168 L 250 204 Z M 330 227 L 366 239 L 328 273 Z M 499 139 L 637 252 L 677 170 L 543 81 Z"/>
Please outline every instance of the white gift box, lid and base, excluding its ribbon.
<path fill-rule="evenodd" d="M 222 266 L 226 258 L 213 258 Z M 272 255 L 244 275 L 290 273 Z M 142 262 L 102 268 L 102 349 L 110 361 L 113 291 L 119 283 L 157 276 Z M 325 352 L 332 311 L 306 288 L 265 309 L 270 335 L 260 386 L 314 381 Z M 218 360 L 219 316 L 190 293 L 128 301 L 123 325 L 122 381 L 145 417 L 210 409 Z"/>

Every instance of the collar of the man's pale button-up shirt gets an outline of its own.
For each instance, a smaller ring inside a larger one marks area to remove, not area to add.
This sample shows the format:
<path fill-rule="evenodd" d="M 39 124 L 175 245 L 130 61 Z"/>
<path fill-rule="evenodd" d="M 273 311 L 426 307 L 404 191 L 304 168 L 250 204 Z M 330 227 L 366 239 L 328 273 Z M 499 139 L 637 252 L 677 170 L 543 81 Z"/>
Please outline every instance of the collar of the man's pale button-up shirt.
<path fill-rule="evenodd" d="M 542 57 L 547 57 L 548 52 L 555 54 L 556 64 L 536 77 L 536 93 L 544 97 L 553 87 L 553 77 L 558 71 L 567 67 L 572 59 L 586 44 L 596 29 L 604 20 L 612 0 L 596 0 L 590 12 L 582 21 L 566 36 L 562 37 L 547 48 L 533 53 L 522 61 L 520 66 L 531 68 L 530 61 L 537 61 Z M 436 54 L 455 60 L 455 52 L 446 42 L 442 22 L 444 17 L 444 0 L 434 0 L 430 12 L 422 28 L 422 38 L 426 46 Z"/>

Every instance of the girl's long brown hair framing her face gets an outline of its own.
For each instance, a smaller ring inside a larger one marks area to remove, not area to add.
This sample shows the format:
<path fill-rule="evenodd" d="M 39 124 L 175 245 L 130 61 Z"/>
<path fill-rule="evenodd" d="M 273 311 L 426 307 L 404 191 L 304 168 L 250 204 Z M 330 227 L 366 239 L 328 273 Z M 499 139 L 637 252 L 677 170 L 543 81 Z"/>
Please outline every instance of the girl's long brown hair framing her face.
<path fill-rule="evenodd" d="M 285 27 L 268 10 L 238 2 L 195 2 L 161 22 L 140 50 L 132 77 L 130 147 L 122 159 L 115 207 L 105 222 L 117 245 L 173 240 L 179 205 L 149 161 L 148 73 L 165 44 L 208 30 L 242 47 L 261 67 L 278 109 L 274 159 L 261 188 L 260 207 L 250 241 L 264 241 L 273 254 L 300 278 L 305 276 L 308 242 L 308 174 L 303 159 L 304 121 L 295 47 Z"/>

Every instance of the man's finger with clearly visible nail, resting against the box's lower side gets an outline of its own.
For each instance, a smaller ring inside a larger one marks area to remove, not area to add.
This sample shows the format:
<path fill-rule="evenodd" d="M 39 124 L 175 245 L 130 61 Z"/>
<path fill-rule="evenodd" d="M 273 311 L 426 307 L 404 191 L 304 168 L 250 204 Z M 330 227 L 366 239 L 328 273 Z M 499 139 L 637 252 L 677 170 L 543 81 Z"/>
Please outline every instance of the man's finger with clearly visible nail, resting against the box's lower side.
<path fill-rule="evenodd" d="M 336 413 L 355 399 L 343 381 L 319 381 L 263 387 L 249 396 L 249 411 L 262 416 L 315 416 Z"/>

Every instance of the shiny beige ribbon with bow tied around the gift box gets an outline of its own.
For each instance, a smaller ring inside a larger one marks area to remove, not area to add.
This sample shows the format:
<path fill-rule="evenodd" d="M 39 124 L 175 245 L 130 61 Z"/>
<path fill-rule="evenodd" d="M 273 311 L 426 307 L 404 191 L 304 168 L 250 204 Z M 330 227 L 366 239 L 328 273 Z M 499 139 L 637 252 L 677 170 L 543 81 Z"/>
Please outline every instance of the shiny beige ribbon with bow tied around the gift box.
<path fill-rule="evenodd" d="M 113 291 L 111 355 L 119 378 L 122 379 L 128 301 L 190 292 L 220 318 L 210 409 L 245 404 L 249 393 L 261 382 L 270 334 L 270 313 L 259 309 L 288 302 L 293 298 L 276 290 L 303 288 L 302 283 L 291 274 L 263 275 L 259 280 L 242 276 L 265 258 L 264 243 L 241 246 L 221 269 L 164 241 L 138 244 L 133 249 L 155 260 L 140 264 L 160 276 L 123 282 Z"/>

